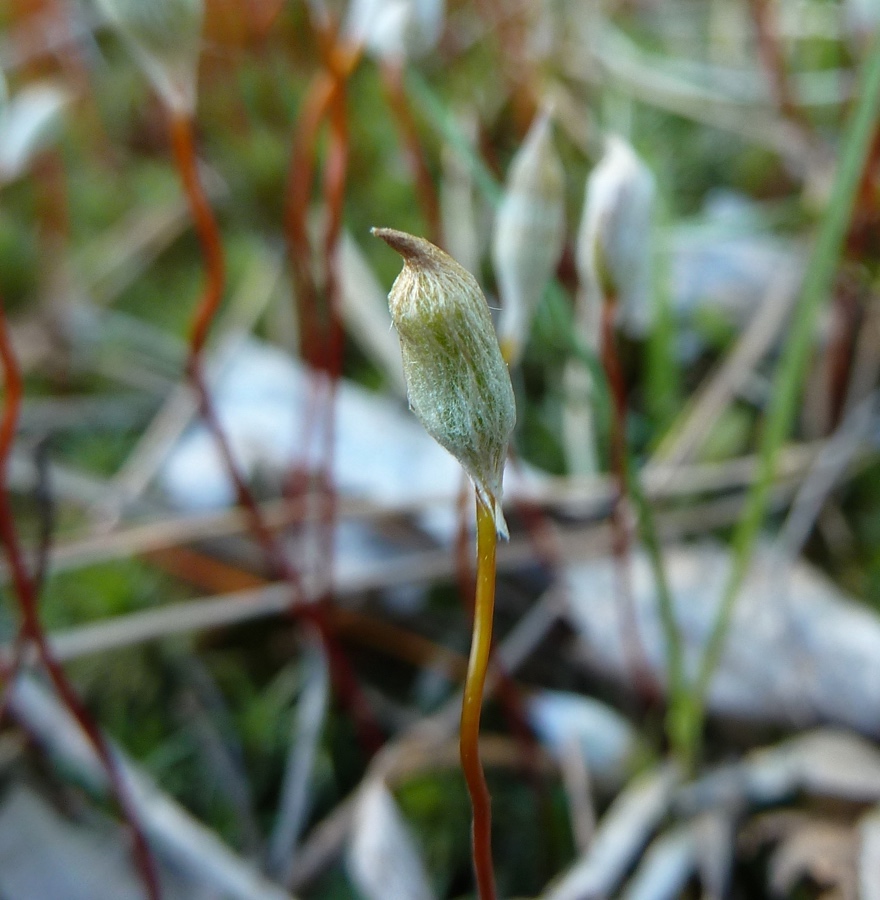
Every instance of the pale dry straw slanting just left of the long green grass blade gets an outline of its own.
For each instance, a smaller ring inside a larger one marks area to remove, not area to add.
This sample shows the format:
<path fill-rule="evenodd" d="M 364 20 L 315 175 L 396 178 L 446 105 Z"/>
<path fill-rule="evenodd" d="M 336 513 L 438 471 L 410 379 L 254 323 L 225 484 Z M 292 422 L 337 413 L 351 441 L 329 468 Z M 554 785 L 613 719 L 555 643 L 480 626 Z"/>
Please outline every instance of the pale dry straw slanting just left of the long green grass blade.
<path fill-rule="evenodd" d="M 655 477 L 653 472 L 658 463 L 676 466 L 693 458 L 718 417 L 780 338 L 799 297 L 801 278 L 800 268 L 794 266 L 784 268 L 777 274 L 745 332 L 669 429 L 645 469 L 646 477 Z"/>

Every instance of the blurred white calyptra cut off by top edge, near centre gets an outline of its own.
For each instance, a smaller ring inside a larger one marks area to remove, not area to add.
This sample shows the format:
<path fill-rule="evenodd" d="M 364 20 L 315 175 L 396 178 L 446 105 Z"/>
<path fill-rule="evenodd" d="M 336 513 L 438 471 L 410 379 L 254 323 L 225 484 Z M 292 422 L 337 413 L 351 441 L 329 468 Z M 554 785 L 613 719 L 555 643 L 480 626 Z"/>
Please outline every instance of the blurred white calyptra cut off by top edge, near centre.
<path fill-rule="evenodd" d="M 352 0 L 345 34 L 383 62 L 417 59 L 443 34 L 446 0 Z"/>

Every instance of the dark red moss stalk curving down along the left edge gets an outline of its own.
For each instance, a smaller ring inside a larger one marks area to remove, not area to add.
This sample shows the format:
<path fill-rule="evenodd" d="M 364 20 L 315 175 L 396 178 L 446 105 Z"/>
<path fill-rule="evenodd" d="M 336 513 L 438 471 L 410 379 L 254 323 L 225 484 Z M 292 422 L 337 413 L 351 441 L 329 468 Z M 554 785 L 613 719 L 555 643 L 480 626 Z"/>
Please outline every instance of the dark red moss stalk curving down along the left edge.
<path fill-rule="evenodd" d="M 3 381 L 5 386 L 5 403 L 3 407 L 2 422 L 0 422 L 0 541 L 6 548 L 6 556 L 9 561 L 9 569 L 12 574 L 12 583 L 18 600 L 21 613 L 19 626 L 19 638 L 22 643 L 30 641 L 36 648 L 37 656 L 49 679 L 52 682 L 58 696 L 64 705 L 70 710 L 80 728 L 82 728 L 91 745 L 94 747 L 101 764 L 107 773 L 110 789 L 116 798 L 134 843 L 133 853 L 144 887 L 150 900 L 160 900 L 161 891 L 159 878 L 156 872 L 155 862 L 147 843 L 131 799 L 128 794 L 122 773 L 113 756 L 113 752 L 107 743 L 101 730 L 92 720 L 86 708 L 81 703 L 73 685 L 67 678 L 64 669 L 57 663 L 52 655 L 46 633 L 40 619 L 39 597 L 36 585 L 27 570 L 24 562 L 18 531 L 15 527 L 15 519 L 12 504 L 7 488 L 7 474 L 9 456 L 12 451 L 12 443 L 18 425 L 18 416 L 21 409 L 23 382 L 15 352 L 9 336 L 6 317 L 0 305 L 0 361 L 2 361 Z M 20 660 L 16 660 L 18 664 Z M 10 673 L 12 679 L 17 672 Z"/>

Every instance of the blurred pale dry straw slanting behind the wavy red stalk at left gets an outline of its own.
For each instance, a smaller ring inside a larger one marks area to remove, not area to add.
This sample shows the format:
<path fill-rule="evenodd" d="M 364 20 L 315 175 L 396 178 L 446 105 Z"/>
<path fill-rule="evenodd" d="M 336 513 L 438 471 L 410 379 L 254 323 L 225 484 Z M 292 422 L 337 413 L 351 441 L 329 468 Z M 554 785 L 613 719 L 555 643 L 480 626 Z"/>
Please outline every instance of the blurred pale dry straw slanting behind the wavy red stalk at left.
<path fill-rule="evenodd" d="M 260 256 L 254 263 L 237 299 L 217 325 L 216 332 L 224 335 L 218 342 L 218 360 L 228 360 L 245 341 L 254 323 L 275 296 L 281 282 L 281 271 L 280 254 Z M 218 368 L 221 366 L 218 365 Z M 198 400 L 191 385 L 179 385 L 111 480 L 109 496 L 101 510 L 105 528 L 116 524 L 125 506 L 142 496 L 174 442 L 197 412 Z"/>

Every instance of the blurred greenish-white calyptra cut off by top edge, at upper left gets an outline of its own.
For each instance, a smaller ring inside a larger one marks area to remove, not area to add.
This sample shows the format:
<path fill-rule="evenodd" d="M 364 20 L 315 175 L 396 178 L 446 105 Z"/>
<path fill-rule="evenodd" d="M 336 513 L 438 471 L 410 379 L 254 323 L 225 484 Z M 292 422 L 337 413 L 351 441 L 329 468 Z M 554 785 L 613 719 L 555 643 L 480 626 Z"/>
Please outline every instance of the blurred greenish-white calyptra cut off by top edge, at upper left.
<path fill-rule="evenodd" d="M 95 0 L 175 112 L 191 115 L 201 50 L 203 0 Z"/>

